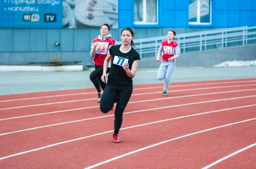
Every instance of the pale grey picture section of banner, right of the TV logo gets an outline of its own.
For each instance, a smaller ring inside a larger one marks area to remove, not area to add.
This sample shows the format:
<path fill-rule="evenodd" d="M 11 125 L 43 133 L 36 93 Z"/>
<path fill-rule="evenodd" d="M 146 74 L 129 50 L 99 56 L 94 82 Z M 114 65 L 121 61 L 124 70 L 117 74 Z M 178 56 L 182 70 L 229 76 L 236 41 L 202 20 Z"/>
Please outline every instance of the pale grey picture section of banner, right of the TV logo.
<path fill-rule="evenodd" d="M 63 0 L 63 28 L 118 28 L 118 0 Z"/>

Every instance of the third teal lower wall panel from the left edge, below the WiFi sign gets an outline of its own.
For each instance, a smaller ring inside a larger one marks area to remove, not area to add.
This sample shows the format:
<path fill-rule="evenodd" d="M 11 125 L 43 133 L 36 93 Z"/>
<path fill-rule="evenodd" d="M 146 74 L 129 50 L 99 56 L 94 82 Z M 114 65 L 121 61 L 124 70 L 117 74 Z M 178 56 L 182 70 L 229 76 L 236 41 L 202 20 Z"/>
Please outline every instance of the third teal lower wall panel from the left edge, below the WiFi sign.
<path fill-rule="evenodd" d="M 30 29 L 30 51 L 46 51 L 46 29 Z"/>

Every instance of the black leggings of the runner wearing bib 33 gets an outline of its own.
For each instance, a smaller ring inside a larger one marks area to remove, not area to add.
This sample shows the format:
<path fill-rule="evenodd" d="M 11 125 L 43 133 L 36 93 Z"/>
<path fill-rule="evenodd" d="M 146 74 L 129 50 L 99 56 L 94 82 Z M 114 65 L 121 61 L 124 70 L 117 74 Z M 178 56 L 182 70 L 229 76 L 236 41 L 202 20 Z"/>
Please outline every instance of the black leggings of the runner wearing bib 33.
<path fill-rule="evenodd" d="M 110 68 L 107 69 L 107 74 L 109 73 Z M 103 74 L 103 66 L 97 66 L 95 65 L 95 70 L 93 70 L 92 73 L 90 73 L 90 80 L 93 82 L 93 85 L 96 87 L 98 93 L 101 92 L 100 87 L 102 90 L 105 90 L 106 83 L 102 82 L 101 76 Z"/>

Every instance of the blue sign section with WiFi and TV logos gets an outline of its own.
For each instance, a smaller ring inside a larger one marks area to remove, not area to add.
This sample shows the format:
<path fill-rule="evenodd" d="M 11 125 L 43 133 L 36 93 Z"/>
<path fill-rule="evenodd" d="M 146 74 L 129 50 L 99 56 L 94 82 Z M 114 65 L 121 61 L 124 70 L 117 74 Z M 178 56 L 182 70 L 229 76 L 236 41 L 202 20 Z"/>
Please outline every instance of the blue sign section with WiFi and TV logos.
<path fill-rule="evenodd" d="M 0 0 L 0 28 L 62 28 L 62 0 Z"/>

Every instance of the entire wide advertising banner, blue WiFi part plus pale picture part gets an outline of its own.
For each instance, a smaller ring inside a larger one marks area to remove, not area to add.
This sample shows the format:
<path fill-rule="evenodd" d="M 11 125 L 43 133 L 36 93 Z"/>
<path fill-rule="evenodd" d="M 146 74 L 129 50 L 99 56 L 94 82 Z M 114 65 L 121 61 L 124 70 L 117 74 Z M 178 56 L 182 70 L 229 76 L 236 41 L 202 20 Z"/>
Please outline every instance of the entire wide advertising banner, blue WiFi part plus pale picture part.
<path fill-rule="evenodd" d="M 0 0 L 0 28 L 118 28 L 118 0 Z"/>

